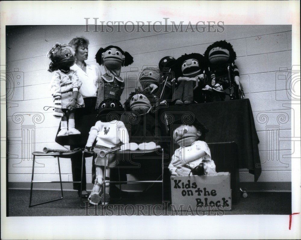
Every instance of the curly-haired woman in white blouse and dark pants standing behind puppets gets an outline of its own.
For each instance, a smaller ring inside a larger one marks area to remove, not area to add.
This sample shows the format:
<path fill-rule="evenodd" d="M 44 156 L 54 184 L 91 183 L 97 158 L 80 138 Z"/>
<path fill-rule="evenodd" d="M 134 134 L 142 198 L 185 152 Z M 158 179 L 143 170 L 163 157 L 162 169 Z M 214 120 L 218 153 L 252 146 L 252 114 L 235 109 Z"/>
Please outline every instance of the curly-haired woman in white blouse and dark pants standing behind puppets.
<path fill-rule="evenodd" d="M 90 128 L 95 125 L 96 91 L 99 85 L 101 73 L 98 66 L 85 63 L 85 60 L 88 58 L 88 39 L 84 37 L 76 37 L 73 38 L 69 44 L 73 47 L 76 57 L 75 64 L 70 67 L 70 69 L 73 69 L 78 75 L 79 80 L 82 81 L 79 92 L 82 94 L 85 102 L 85 107 L 76 111 L 76 128 L 81 132 L 81 135 L 80 141 L 74 141 L 73 143 L 70 142 L 70 149 L 75 149 L 85 147 Z M 81 163 L 81 155 L 74 155 L 71 158 L 73 181 L 80 181 L 81 179 Z M 83 166 L 83 176 L 82 197 L 88 198 L 89 194 L 86 191 L 85 162 Z M 80 196 L 80 183 L 73 183 L 73 189 L 78 190 L 77 193 Z"/>

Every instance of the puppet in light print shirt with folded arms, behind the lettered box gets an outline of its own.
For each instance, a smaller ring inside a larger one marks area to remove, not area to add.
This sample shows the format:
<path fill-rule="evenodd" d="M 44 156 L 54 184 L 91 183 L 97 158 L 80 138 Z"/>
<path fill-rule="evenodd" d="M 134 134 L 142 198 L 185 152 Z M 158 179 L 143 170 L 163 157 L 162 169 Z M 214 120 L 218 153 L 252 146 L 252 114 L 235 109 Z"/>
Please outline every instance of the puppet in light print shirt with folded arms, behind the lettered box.
<path fill-rule="evenodd" d="M 205 140 L 208 129 L 197 119 L 192 123 L 176 120 L 173 123 L 174 143 L 180 146 L 168 166 L 171 175 L 214 175 L 216 166 Z"/>

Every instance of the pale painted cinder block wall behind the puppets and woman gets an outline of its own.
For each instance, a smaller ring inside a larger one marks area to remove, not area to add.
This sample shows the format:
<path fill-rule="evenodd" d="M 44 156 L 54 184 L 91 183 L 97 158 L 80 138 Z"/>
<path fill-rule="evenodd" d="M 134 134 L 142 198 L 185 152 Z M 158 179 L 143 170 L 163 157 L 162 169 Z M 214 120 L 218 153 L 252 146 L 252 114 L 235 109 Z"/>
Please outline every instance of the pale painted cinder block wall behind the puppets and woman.
<path fill-rule="evenodd" d="M 160 27 L 156 26 L 156 29 Z M 134 63 L 122 69 L 123 78 L 135 68 L 141 70 L 143 66 L 157 65 L 164 56 L 177 58 L 184 53 L 203 54 L 211 43 L 226 39 L 237 53 L 240 81 L 253 109 L 263 163 L 259 181 L 291 181 L 291 109 L 283 106 L 290 101 L 285 79 L 277 79 L 279 68 L 290 69 L 292 66 L 291 26 L 225 26 L 221 33 L 127 33 L 122 26 L 122 32 L 93 30 L 94 26 L 89 27 L 90 32 L 84 32 L 85 26 L 7 28 L 7 99 L 14 100 L 7 103 L 9 182 L 30 182 L 31 152 L 34 150 L 41 151 L 45 146 L 64 149 L 54 142 L 60 120 L 55 119 L 50 110 L 43 110 L 52 103 L 49 93 L 52 73 L 47 72 L 49 60 L 46 54 L 54 43 L 68 43 L 76 36 L 85 36 L 90 41 L 88 63 L 97 64 L 96 52 L 110 44 L 132 54 Z M 135 86 L 135 81 L 126 83 L 122 103 Z M 35 180 L 58 179 L 57 162 L 49 160 L 37 159 Z M 86 167 L 87 181 L 91 182 L 91 159 L 86 162 Z M 61 171 L 64 181 L 72 181 L 70 161 L 61 161 Z M 247 169 L 240 169 L 241 182 L 253 180 Z"/>

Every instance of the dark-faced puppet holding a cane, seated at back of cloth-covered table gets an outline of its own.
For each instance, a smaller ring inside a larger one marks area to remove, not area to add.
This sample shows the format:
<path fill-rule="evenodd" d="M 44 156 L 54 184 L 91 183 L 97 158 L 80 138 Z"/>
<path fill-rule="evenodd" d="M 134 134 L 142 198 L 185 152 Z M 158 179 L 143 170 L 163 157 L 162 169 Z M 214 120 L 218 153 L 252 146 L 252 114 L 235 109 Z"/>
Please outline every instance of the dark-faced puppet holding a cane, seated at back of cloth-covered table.
<path fill-rule="evenodd" d="M 179 71 L 177 61 L 174 57 L 166 56 L 163 57 L 159 62 L 159 69 L 163 74 L 163 91 L 160 99 L 167 101 L 172 100 L 173 89 L 175 88 L 179 77 Z"/>

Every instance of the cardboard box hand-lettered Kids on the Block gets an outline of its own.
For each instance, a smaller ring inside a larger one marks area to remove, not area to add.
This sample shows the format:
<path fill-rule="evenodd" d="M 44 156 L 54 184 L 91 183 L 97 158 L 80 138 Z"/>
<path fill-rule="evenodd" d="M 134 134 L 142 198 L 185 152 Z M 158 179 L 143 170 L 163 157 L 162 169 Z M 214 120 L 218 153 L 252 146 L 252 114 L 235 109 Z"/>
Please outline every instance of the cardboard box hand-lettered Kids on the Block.
<path fill-rule="evenodd" d="M 230 173 L 171 176 L 171 194 L 175 209 L 231 210 Z"/>

